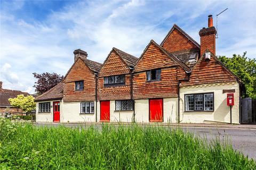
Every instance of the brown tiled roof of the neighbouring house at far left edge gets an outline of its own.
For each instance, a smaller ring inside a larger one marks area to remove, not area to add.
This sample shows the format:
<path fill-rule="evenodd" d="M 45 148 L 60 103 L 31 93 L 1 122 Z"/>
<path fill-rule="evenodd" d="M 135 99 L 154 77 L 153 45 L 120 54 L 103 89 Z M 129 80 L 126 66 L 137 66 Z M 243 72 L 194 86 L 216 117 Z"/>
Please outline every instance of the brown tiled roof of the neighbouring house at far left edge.
<path fill-rule="evenodd" d="M 8 99 L 15 98 L 18 95 L 29 96 L 27 92 L 19 90 L 0 89 L 0 106 L 11 106 Z"/>

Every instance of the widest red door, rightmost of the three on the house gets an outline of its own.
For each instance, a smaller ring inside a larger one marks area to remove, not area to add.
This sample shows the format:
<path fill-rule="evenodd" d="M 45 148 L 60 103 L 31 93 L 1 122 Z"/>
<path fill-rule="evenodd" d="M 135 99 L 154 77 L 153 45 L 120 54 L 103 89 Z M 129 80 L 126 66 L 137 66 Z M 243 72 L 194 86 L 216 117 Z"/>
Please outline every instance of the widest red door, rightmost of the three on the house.
<path fill-rule="evenodd" d="M 163 99 L 149 99 L 149 122 L 163 122 Z"/>

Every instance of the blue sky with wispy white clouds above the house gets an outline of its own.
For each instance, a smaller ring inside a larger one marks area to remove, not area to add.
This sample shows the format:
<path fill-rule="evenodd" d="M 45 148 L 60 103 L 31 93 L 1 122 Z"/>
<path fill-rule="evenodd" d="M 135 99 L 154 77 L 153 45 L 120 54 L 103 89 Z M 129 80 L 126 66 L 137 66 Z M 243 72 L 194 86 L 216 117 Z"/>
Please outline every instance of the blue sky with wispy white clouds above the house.
<path fill-rule="evenodd" d="M 73 51 L 103 62 L 112 47 L 139 57 L 174 23 L 198 43 L 207 15 L 218 19 L 217 55 L 256 57 L 255 1 L 1 1 L 0 81 L 34 93 L 33 72 L 65 75 Z"/>

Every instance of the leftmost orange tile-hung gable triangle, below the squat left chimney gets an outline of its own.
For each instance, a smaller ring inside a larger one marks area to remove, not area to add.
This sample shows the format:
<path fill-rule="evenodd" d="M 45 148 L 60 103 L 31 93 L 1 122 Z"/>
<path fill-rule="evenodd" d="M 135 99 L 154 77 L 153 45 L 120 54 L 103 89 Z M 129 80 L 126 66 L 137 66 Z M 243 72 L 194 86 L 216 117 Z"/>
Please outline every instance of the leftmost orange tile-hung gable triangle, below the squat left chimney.
<path fill-rule="evenodd" d="M 63 82 L 73 82 L 84 80 L 86 77 L 95 77 L 93 71 L 84 63 L 81 58 L 78 58 L 76 62 L 71 66 Z"/>

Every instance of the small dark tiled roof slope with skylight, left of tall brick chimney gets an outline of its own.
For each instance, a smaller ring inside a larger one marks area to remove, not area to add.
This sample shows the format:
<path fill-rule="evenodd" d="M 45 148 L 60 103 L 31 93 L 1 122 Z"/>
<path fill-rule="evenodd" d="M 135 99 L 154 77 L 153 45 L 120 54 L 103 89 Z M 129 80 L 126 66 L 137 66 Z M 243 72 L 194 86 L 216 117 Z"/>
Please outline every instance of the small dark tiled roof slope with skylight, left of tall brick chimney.
<path fill-rule="evenodd" d="M 180 50 L 178 52 L 172 52 L 172 54 L 178 57 L 184 64 L 186 64 L 191 69 L 197 62 L 199 49 L 195 48 Z M 193 56 L 193 58 L 191 58 L 191 55 Z"/>

